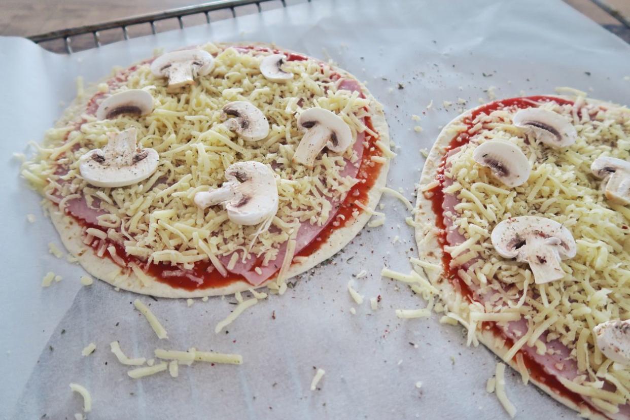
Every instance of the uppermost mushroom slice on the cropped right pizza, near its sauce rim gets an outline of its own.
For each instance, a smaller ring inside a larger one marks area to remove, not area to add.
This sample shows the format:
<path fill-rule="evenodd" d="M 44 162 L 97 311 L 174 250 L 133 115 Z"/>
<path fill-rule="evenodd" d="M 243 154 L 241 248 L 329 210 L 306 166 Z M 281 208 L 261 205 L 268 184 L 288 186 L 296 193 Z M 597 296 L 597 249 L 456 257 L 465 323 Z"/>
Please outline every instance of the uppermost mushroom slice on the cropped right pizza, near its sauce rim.
<path fill-rule="evenodd" d="M 564 116 L 542 108 L 525 108 L 514 115 L 515 126 L 534 135 L 536 140 L 551 147 L 567 147 L 575 143 L 578 133 Z"/>

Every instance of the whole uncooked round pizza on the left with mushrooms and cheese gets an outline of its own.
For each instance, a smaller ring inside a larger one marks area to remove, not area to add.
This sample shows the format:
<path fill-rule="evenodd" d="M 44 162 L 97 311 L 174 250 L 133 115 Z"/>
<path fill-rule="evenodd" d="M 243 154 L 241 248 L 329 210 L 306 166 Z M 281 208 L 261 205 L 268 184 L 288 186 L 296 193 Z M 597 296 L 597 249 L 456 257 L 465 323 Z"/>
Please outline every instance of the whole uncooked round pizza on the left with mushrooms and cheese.
<path fill-rule="evenodd" d="M 306 111 L 322 119 L 299 125 Z M 391 156 L 381 104 L 348 72 L 275 45 L 209 43 L 115 70 L 23 175 L 91 275 L 190 298 L 283 293 L 362 229 Z"/>

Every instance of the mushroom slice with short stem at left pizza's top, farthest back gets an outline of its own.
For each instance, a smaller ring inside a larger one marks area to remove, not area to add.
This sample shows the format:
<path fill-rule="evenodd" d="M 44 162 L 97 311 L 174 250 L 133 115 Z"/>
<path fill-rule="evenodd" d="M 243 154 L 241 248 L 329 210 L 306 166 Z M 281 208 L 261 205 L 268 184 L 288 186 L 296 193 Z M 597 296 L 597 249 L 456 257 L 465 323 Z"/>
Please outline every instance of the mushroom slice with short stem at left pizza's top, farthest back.
<path fill-rule="evenodd" d="M 168 77 L 168 92 L 195 83 L 195 77 L 210 74 L 213 68 L 214 57 L 204 50 L 171 51 L 151 63 L 154 76 Z"/>

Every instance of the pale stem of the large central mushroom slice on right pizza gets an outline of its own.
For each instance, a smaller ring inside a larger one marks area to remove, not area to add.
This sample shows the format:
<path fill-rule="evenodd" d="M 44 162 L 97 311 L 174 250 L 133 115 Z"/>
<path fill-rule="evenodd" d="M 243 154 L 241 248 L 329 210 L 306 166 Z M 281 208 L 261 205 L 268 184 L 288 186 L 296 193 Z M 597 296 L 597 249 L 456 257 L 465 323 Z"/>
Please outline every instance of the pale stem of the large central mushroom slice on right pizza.
<path fill-rule="evenodd" d="M 559 241 L 556 238 L 532 238 L 527 241 L 522 259 L 529 263 L 534 274 L 536 284 L 549 283 L 563 278 L 566 273 L 560 266 L 560 255 L 555 247 Z M 521 255 L 519 255 L 521 256 Z"/>

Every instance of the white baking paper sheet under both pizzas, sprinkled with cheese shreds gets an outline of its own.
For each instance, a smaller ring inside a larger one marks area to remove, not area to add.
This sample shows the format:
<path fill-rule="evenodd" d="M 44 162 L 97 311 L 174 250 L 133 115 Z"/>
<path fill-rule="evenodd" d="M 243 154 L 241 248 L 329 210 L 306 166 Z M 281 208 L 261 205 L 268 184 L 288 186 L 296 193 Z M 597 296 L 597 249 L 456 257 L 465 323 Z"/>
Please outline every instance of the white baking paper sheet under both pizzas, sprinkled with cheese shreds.
<path fill-rule="evenodd" d="M 390 196 L 382 199 L 384 226 L 364 229 L 331 263 L 302 275 L 284 296 L 247 310 L 221 334 L 214 326 L 234 309 L 234 297 L 195 300 L 192 307 L 185 300 L 141 297 L 168 330 L 169 339 L 158 340 L 133 310 L 134 295 L 100 281 L 81 287 L 84 271 L 48 253 L 48 242 L 60 244 L 59 237 L 11 154 L 42 139 L 62 103 L 74 98 L 76 76 L 97 81 L 113 65 L 149 57 L 156 47 L 236 40 L 330 57 L 366 81 L 385 106 L 398 152 L 389 186 L 403 188 L 411 200 L 423 165 L 420 149 L 430 148 L 440 128 L 459 114 L 459 98 L 472 107 L 479 98 L 488 100 L 491 86 L 498 97 L 510 97 L 567 85 L 619 103 L 630 97 L 630 81 L 624 80 L 630 74 L 628 45 L 561 1 L 314 0 L 70 57 L 20 38 L 0 38 L 0 414 L 72 417 L 82 401 L 68 384 L 77 382 L 93 396 L 90 419 L 507 417 L 485 391 L 496 363 L 490 351 L 467 348 L 461 327 L 438 324 L 438 315 L 396 318 L 394 309 L 424 304 L 379 275 L 384 265 L 410 271 L 407 258 L 416 255 L 413 231 L 404 223 L 408 213 Z M 432 100 L 432 109 L 425 109 Z M 445 108 L 443 101 L 455 105 Z M 34 224 L 27 213 L 37 216 Z M 356 305 L 346 285 L 364 269 L 369 275 L 355 280 L 355 288 L 366 301 Z M 40 287 L 47 271 L 63 280 Z M 377 295 L 382 302 L 372 311 L 368 300 Z M 240 353 L 244 363 L 195 363 L 180 366 L 177 379 L 161 373 L 132 380 L 110 352 L 114 340 L 129 356 L 195 346 Z M 96 352 L 81 356 L 90 342 Z M 311 392 L 315 367 L 326 375 L 321 389 Z M 520 418 L 573 416 L 522 385 L 512 371 L 507 393 Z"/>

